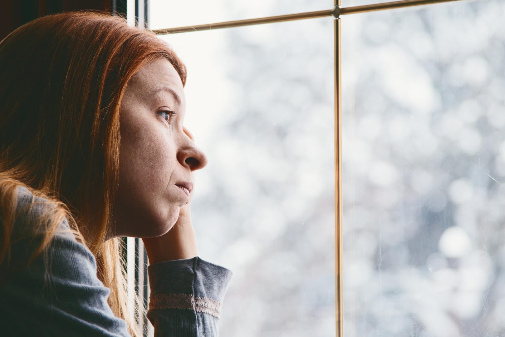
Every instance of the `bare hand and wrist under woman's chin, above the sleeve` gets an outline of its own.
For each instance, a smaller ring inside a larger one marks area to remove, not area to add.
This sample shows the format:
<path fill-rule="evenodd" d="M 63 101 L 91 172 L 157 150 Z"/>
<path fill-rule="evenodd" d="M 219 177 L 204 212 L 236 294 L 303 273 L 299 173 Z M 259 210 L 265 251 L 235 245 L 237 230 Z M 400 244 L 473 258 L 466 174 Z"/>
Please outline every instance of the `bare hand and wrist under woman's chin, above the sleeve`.
<path fill-rule="evenodd" d="M 166 234 L 142 238 L 149 264 L 198 256 L 190 211 L 193 192 L 194 188 L 189 194 L 189 203 L 180 208 L 179 218 Z"/>

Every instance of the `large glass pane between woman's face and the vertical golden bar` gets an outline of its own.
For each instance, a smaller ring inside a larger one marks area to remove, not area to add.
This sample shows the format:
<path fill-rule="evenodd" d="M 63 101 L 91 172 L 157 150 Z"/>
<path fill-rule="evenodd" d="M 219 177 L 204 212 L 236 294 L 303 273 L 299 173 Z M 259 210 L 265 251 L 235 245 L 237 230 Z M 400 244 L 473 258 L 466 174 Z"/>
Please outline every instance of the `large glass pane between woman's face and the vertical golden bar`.
<path fill-rule="evenodd" d="M 334 336 L 333 19 L 165 35 L 185 62 L 200 257 L 221 336 Z"/>

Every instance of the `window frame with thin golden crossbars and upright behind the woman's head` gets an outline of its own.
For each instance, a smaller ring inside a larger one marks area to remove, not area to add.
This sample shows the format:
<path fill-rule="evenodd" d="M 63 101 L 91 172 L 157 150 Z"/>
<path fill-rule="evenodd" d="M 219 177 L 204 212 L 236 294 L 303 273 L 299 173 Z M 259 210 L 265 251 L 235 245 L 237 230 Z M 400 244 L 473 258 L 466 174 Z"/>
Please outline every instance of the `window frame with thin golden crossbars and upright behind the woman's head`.
<path fill-rule="evenodd" d="M 244 20 L 225 21 L 211 24 L 194 26 L 174 27 L 153 30 L 156 34 L 175 34 L 181 32 L 197 32 L 210 29 L 233 28 L 256 24 L 267 24 L 291 20 L 303 20 L 320 17 L 332 17 L 334 20 L 334 149 L 335 149 L 335 332 L 337 337 L 343 336 L 343 274 L 342 274 L 342 82 L 341 82 L 341 16 L 366 13 L 372 11 L 393 10 L 423 5 L 434 5 L 446 2 L 465 0 L 403 0 L 395 2 L 382 2 L 371 5 L 341 7 L 341 0 L 333 1 L 333 9 L 303 12 L 296 14 L 279 15 L 272 17 L 250 18 Z M 134 2 L 134 14 L 129 13 L 126 3 Z M 134 18 L 135 26 L 148 28 L 149 0 L 115 0 L 114 3 L 122 3 L 127 18 Z M 116 14 L 118 14 L 116 12 Z M 123 256 L 126 261 L 125 269 L 127 277 L 130 277 L 128 289 L 137 294 L 142 308 L 135 307 L 137 317 L 143 319 L 138 322 L 144 336 L 153 335 L 154 331 L 148 324 L 145 313 L 148 309 L 149 286 L 147 280 L 147 254 L 140 238 L 122 237 L 124 246 Z M 131 268 L 134 270 L 132 271 Z M 133 281 L 131 281 L 133 277 Z M 134 283 L 132 283 L 134 282 Z M 130 298 L 130 294 L 129 294 Z"/>

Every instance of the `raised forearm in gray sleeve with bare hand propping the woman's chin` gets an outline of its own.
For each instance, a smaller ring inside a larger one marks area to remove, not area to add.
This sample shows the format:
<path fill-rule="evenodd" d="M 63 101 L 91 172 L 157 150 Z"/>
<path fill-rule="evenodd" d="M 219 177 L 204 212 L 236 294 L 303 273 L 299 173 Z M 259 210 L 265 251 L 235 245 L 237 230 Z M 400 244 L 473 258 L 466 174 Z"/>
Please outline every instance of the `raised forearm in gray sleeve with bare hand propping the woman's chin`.
<path fill-rule="evenodd" d="M 192 195 L 193 191 L 190 200 Z M 155 337 L 218 336 L 221 304 L 232 272 L 197 257 L 190 204 L 180 209 L 166 234 L 142 240 L 150 263 L 146 316 L 155 327 Z"/>

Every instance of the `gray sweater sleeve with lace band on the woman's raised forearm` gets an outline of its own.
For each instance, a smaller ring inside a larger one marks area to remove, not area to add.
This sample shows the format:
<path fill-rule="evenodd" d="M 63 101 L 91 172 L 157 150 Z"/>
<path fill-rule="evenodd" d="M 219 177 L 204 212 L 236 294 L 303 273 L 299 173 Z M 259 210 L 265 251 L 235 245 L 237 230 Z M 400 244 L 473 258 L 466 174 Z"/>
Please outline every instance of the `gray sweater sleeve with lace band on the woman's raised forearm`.
<path fill-rule="evenodd" d="M 147 267 L 155 337 L 218 335 L 221 305 L 232 272 L 199 257 Z"/>

